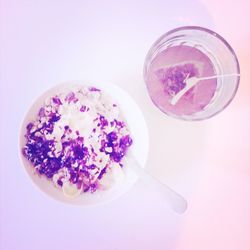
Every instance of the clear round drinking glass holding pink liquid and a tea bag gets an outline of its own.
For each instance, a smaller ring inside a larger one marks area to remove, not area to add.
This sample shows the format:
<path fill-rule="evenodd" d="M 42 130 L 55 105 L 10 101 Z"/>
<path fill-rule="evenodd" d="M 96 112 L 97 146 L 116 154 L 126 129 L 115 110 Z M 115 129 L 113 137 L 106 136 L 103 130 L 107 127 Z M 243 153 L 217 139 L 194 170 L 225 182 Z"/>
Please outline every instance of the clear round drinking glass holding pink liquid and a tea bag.
<path fill-rule="evenodd" d="M 173 85 L 178 74 L 181 85 Z M 171 104 L 173 97 L 187 88 L 191 77 L 212 79 L 197 80 L 175 105 Z M 232 101 L 240 68 L 234 50 L 223 37 L 206 28 L 185 26 L 167 32 L 152 45 L 144 63 L 144 80 L 153 103 L 165 114 L 203 120 Z"/>

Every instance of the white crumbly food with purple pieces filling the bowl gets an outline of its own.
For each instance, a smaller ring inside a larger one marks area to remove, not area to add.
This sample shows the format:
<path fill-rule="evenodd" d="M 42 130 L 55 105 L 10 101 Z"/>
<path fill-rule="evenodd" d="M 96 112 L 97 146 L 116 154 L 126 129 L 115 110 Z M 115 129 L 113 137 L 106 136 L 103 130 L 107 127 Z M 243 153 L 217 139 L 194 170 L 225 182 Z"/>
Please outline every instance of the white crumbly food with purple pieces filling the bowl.
<path fill-rule="evenodd" d="M 124 179 L 132 138 L 121 110 L 95 87 L 48 97 L 26 125 L 22 154 L 66 196 L 94 194 Z"/>

